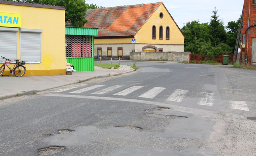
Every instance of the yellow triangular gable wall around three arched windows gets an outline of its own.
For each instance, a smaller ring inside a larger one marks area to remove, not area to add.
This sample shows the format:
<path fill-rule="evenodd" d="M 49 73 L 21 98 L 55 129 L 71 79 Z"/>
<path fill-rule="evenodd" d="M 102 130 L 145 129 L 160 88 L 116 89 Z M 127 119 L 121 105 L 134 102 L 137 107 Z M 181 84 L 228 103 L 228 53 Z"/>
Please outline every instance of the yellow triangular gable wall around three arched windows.
<path fill-rule="evenodd" d="M 164 14 L 161 19 L 160 13 Z M 156 26 L 156 39 L 152 39 L 152 26 Z M 159 40 L 159 27 L 163 27 L 163 39 Z M 166 26 L 170 28 L 170 40 L 166 40 Z M 142 26 L 142 28 L 135 35 L 136 43 L 148 43 L 148 44 L 184 44 L 184 36 L 180 32 L 178 26 L 176 26 L 174 20 L 172 20 L 170 14 L 161 4 L 156 11 L 150 16 L 148 21 Z"/>

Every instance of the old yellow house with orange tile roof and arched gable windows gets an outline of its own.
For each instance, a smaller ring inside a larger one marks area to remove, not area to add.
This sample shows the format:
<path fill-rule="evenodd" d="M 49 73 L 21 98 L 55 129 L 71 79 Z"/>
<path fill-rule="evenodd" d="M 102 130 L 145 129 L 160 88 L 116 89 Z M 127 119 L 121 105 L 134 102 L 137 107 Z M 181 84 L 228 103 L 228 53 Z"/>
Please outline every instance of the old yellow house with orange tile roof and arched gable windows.
<path fill-rule="evenodd" d="M 130 60 L 132 50 L 184 52 L 184 34 L 162 2 L 90 9 L 85 18 L 84 27 L 98 28 L 95 58 Z"/>

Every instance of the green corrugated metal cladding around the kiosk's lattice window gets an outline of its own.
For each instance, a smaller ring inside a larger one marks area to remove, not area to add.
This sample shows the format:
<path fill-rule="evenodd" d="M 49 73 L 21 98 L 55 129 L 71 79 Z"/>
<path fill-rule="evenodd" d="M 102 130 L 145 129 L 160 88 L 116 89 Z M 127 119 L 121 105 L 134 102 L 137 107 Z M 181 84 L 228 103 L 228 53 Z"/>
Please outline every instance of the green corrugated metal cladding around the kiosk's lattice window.
<path fill-rule="evenodd" d="M 66 27 L 66 35 L 92 36 L 92 57 L 91 58 L 67 58 L 67 62 L 73 64 L 74 70 L 94 71 L 94 36 L 98 35 L 98 28 Z"/>

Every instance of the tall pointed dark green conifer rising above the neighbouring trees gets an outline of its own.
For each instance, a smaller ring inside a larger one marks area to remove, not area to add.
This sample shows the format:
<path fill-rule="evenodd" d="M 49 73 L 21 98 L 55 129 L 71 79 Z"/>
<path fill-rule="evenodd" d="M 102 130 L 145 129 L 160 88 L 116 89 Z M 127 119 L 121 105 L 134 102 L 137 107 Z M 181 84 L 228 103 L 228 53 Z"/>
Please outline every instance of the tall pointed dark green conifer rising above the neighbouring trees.
<path fill-rule="evenodd" d="M 217 16 L 218 10 L 216 10 L 216 7 L 214 8 L 213 15 L 211 16 L 211 22 L 210 22 L 210 40 L 212 42 L 213 46 L 218 46 L 218 44 L 225 42 L 227 38 L 226 30 L 223 24 L 223 21 L 221 21 L 219 16 Z"/>

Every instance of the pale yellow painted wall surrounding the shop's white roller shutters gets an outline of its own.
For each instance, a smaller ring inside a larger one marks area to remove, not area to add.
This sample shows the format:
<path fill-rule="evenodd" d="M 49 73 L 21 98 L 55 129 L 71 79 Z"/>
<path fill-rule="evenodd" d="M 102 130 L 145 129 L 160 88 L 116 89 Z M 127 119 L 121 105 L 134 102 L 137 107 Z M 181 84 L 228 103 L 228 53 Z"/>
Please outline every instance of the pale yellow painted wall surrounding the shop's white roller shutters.
<path fill-rule="evenodd" d="M 41 33 L 42 62 L 31 65 L 26 63 L 25 76 L 66 74 L 65 10 L 7 4 L 0 4 L 0 10 L 21 14 L 21 28 L 43 31 Z M 17 32 L 17 46 L 18 59 L 20 59 L 20 31 Z"/>

